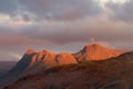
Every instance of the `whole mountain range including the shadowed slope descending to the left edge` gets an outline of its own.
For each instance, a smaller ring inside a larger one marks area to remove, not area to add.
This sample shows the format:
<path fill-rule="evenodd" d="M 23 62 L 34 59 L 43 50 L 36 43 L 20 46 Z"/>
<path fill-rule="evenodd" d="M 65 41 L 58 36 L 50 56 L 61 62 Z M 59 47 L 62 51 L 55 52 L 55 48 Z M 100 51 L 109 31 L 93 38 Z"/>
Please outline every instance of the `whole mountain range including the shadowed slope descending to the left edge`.
<path fill-rule="evenodd" d="M 76 67 L 79 65 L 82 65 L 81 62 L 83 61 L 105 61 L 109 59 L 113 60 L 113 58 L 119 57 L 120 55 L 125 52 L 127 51 L 106 48 L 98 43 L 88 44 L 76 53 L 68 53 L 68 52 L 53 53 L 49 50 L 42 50 L 42 51 L 35 52 L 34 50 L 29 49 L 23 55 L 21 60 L 2 77 L 2 79 L 0 80 L 0 88 L 11 85 L 16 82 L 18 79 L 20 79 L 19 82 L 21 82 L 21 78 L 27 77 L 29 75 L 38 76 L 38 73 L 42 73 L 44 71 L 48 72 L 51 68 L 54 69 L 54 67 L 59 67 L 59 69 L 60 67 L 61 68 L 63 67 L 64 69 L 62 68 L 62 71 L 66 72 L 68 70 L 71 70 L 71 69 L 73 70 L 72 68 L 73 66 Z M 119 58 L 123 56 L 120 56 Z M 119 58 L 115 58 L 115 59 L 119 59 Z M 65 70 L 65 66 L 66 66 L 66 69 L 68 69 L 68 66 L 70 67 L 70 69 Z M 88 66 L 85 67 L 88 68 Z M 79 71 L 76 72 L 79 73 Z M 57 76 L 57 78 L 59 76 Z M 10 87 L 6 87 L 6 88 L 10 89 Z M 11 89 L 25 89 L 25 88 L 11 87 Z M 28 89 L 30 89 L 30 87 L 28 87 Z M 41 88 L 35 88 L 35 89 L 41 89 Z M 49 89 L 49 88 L 44 88 L 44 89 Z M 64 89 L 64 88 L 58 88 L 58 89 Z"/>

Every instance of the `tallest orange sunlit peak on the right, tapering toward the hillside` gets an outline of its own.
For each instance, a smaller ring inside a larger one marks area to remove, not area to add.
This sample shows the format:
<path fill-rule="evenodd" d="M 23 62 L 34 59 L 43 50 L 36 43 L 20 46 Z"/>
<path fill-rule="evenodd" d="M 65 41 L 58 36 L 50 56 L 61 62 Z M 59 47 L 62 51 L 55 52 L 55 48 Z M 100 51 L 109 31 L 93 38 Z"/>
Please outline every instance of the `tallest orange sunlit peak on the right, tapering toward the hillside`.
<path fill-rule="evenodd" d="M 83 48 L 80 52 L 75 53 L 74 57 L 79 60 L 103 60 L 112 57 L 116 57 L 125 51 L 109 49 L 98 43 L 89 44 Z"/>

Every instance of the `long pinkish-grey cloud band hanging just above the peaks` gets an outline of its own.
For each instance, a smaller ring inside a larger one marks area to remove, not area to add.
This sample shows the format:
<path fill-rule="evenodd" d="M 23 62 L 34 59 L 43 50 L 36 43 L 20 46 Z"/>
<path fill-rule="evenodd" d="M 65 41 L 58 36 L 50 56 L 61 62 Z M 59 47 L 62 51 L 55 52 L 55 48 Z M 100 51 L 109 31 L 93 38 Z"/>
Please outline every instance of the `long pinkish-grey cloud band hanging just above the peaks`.
<path fill-rule="evenodd" d="M 33 39 L 44 39 L 52 43 L 65 44 L 71 42 L 89 42 L 91 38 L 105 41 L 125 41 L 130 42 L 133 38 L 133 30 L 131 26 L 115 22 L 101 22 L 95 19 L 93 22 L 83 22 L 65 24 L 65 27 L 35 27 L 21 31 L 23 36 Z M 100 23 L 101 22 L 101 23 Z M 84 24 L 86 27 L 84 27 Z M 40 28 L 40 29 L 38 29 Z M 37 30 L 38 29 L 38 30 Z"/>

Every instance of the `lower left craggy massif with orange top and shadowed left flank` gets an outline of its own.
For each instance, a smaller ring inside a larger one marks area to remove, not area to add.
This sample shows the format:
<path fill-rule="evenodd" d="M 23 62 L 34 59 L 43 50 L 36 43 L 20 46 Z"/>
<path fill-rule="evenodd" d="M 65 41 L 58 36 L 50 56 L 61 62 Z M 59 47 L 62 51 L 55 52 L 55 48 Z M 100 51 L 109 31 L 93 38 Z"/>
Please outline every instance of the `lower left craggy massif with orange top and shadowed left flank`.
<path fill-rule="evenodd" d="M 20 70 L 20 68 L 23 67 L 21 69 L 23 73 L 34 73 L 51 67 L 69 65 L 69 63 L 78 63 L 75 58 L 71 53 L 55 55 L 48 50 L 43 50 L 39 52 L 28 50 L 13 70 L 14 71 Z"/>

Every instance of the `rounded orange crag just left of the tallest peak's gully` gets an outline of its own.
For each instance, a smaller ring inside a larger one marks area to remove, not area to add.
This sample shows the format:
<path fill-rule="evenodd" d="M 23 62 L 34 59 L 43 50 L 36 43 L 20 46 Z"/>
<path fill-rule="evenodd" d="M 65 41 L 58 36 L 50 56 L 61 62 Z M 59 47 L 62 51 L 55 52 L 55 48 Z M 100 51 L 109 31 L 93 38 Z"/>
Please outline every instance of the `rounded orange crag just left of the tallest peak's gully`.
<path fill-rule="evenodd" d="M 70 63 L 78 63 L 76 59 L 71 53 L 60 53 L 57 56 L 59 65 L 70 65 Z"/>

